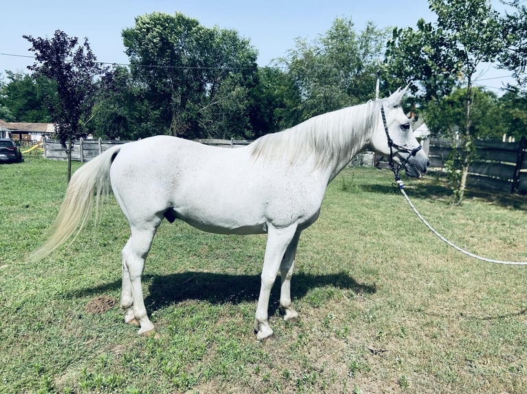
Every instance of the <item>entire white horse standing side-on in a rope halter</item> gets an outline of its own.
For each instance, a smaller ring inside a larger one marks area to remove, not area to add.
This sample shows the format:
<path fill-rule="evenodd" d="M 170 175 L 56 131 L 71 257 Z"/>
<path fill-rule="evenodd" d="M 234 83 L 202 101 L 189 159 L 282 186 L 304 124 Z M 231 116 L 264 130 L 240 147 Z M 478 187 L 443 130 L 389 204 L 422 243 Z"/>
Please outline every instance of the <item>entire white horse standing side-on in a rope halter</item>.
<path fill-rule="evenodd" d="M 267 233 L 255 332 L 259 340 L 268 338 L 273 334 L 269 296 L 278 271 L 284 319 L 299 317 L 290 295 L 294 255 L 301 231 L 318 218 L 327 184 L 338 172 L 366 149 L 404 165 L 409 176 L 426 172 L 428 159 L 418 152 L 400 106 L 404 93 L 313 117 L 244 148 L 169 136 L 111 148 L 72 176 L 54 233 L 35 256 L 52 253 L 78 234 L 111 185 L 131 229 L 122 249 L 120 305 L 126 323 L 138 323 L 139 334 L 147 334 L 154 326 L 144 307 L 141 275 L 163 218 L 212 233 Z"/>

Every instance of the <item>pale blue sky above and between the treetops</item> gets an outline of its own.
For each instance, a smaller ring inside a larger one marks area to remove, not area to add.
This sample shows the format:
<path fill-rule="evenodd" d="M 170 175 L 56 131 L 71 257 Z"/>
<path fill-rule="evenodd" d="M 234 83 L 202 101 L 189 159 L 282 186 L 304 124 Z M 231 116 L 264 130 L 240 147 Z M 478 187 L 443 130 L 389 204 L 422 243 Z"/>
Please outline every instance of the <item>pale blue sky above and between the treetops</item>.
<path fill-rule="evenodd" d="M 493 4 L 499 4 L 493 0 Z M 418 19 L 433 21 L 427 0 L 91 0 L 91 1 L 3 1 L 0 5 L 0 73 L 25 71 L 32 64 L 30 45 L 23 34 L 52 37 L 55 30 L 69 36 L 87 37 L 101 62 L 127 63 L 121 31 L 133 27 L 135 17 L 154 11 L 182 12 L 206 27 L 235 29 L 259 51 L 258 63 L 268 65 L 273 58 L 285 56 L 294 39 L 313 40 L 330 29 L 336 17 L 351 17 L 356 30 L 367 21 L 377 27 L 416 27 Z M 481 84 L 501 86 L 508 71 L 483 67 Z"/>

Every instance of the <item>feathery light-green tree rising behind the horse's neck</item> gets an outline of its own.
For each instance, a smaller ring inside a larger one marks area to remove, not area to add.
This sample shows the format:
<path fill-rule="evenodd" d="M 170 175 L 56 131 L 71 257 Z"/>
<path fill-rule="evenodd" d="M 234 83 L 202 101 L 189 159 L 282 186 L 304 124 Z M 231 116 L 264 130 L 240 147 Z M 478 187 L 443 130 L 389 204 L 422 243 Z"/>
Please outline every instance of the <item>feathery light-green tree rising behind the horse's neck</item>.
<path fill-rule="evenodd" d="M 336 18 L 312 43 L 297 39 L 288 57 L 279 60 L 301 97 L 295 123 L 373 98 L 386 39 L 387 31 L 372 22 L 357 33 L 351 18 Z"/>

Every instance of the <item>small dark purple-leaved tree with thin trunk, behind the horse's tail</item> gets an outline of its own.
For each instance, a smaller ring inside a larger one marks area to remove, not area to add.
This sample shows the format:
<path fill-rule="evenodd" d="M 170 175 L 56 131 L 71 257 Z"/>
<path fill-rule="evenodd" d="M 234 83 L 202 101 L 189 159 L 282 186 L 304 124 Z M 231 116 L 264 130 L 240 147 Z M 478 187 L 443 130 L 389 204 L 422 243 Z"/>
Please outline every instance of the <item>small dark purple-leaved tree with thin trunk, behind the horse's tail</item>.
<path fill-rule="evenodd" d="M 78 45 L 77 37 L 56 30 L 53 38 L 33 38 L 30 51 L 35 52 L 34 65 L 28 69 L 34 76 L 45 77 L 56 84 L 56 100 L 48 100 L 55 122 L 55 132 L 67 154 L 67 180 L 72 176 L 73 139 L 83 132 L 85 116 L 93 106 L 96 91 L 94 78 L 106 71 L 94 56 L 87 38 Z"/>

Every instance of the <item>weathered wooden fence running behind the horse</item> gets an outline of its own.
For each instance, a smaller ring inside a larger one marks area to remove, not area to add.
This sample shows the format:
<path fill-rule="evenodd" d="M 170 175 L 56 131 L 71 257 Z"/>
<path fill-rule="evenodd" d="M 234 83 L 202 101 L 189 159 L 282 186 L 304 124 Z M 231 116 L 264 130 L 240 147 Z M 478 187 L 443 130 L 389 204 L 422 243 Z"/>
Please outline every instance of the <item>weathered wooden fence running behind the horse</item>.
<path fill-rule="evenodd" d="M 224 148 L 239 148 L 251 141 L 235 139 L 198 139 L 200 143 Z M 75 141 L 72 151 L 74 161 L 89 161 L 111 146 L 129 141 L 89 140 Z M 523 137 L 519 142 L 475 141 L 477 160 L 469 168 L 469 187 L 492 189 L 500 192 L 527 194 L 527 141 Z M 431 139 L 429 141 L 429 159 L 431 167 L 444 169 L 444 162 L 452 151 L 452 141 Z M 61 143 L 51 139 L 44 141 L 44 156 L 47 159 L 66 160 Z M 378 165 L 379 157 L 373 152 L 363 152 L 351 165 L 372 167 Z"/>

